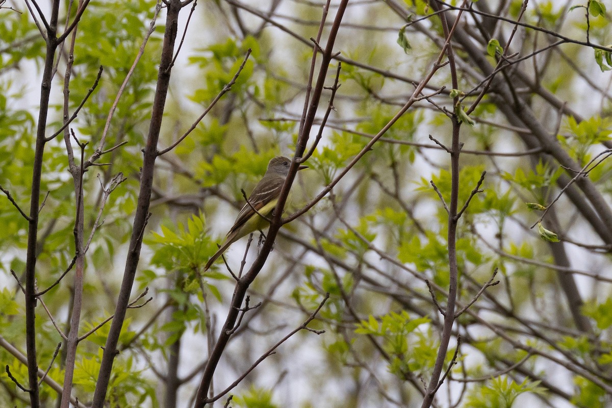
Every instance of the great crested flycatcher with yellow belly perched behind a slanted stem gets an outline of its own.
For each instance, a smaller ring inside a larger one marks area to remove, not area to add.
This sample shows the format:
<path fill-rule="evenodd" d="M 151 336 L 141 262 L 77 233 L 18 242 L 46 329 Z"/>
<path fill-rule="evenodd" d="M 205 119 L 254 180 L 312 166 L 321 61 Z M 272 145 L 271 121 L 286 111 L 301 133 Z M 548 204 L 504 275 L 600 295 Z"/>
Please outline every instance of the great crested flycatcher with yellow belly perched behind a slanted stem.
<path fill-rule="evenodd" d="M 234 226 L 228 232 L 225 242 L 219 248 L 211 259 L 206 263 L 204 272 L 206 272 L 213 262 L 221 256 L 230 245 L 241 239 L 247 234 L 258 229 L 265 228 L 268 224 L 261 215 L 270 218 L 272 212 L 276 208 L 280 190 L 283 189 L 287 174 L 289 174 L 289 166 L 291 160 L 283 156 L 277 156 L 270 160 L 266 174 L 263 179 L 253 188 L 251 195 L 248 197 L 247 204 L 242 207 Z M 308 168 L 308 166 L 299 166 L 298 170 Z M 253 210 L 255 209 L 255 210 Z"/>

